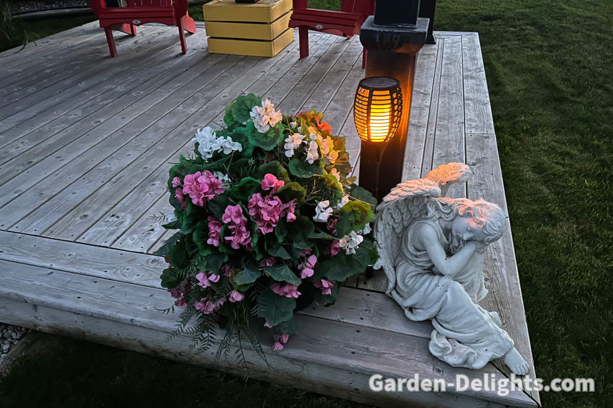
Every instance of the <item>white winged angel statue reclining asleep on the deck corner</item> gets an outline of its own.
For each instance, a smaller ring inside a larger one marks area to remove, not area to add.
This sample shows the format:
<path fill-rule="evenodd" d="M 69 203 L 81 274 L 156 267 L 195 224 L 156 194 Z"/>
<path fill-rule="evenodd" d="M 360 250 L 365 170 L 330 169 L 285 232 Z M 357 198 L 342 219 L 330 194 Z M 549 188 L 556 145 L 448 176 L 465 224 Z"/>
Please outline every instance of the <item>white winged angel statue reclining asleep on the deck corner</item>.
<path fill-rule="evenodd" d="M 432 320 L 429 348 L 440 360 L 479 369 L 502 358 L 514 373 L 528 374 L 498 313 L 478 305 L 487 294 L 484 252 L 503 235 L 504 213 L 483 199 L 444 197 L 449 185 L 470 175 L 468 166 L 449 163 L 398 184 L 383 199 L 375 237 L 386 294 L 409 319 Z"/>

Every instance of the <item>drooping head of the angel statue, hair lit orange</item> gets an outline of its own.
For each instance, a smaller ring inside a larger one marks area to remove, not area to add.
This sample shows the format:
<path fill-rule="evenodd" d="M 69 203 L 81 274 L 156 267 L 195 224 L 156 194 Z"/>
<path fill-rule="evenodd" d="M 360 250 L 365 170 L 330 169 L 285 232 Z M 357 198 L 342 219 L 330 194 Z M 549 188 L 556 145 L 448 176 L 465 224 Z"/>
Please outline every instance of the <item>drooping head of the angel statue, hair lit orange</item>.
<path fill-rule="evenodd" d="M 506 228 L 504 212 L 496 204 L 478 199 L 439 198 L 451 207 L 454 217 L 451 223 L 456 245 L 459 241 L 478 240 L 492 243 L 500 239 Z"/>

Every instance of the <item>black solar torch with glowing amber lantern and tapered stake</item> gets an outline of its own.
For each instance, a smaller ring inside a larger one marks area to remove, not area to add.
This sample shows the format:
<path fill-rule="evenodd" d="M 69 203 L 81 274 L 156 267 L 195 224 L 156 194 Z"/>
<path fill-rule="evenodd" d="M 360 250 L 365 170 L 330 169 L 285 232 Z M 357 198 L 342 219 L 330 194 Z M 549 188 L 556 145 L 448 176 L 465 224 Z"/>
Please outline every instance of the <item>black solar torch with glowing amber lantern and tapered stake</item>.
<path fill-rule="evenodd" d="M 359 185 L 381 202 L 389 191 L 379 192 L 379 166 L 402 116 L 402 89 L 394 78 L 373 76 L 357 86 L 353 119 L 362 141 Z"/>

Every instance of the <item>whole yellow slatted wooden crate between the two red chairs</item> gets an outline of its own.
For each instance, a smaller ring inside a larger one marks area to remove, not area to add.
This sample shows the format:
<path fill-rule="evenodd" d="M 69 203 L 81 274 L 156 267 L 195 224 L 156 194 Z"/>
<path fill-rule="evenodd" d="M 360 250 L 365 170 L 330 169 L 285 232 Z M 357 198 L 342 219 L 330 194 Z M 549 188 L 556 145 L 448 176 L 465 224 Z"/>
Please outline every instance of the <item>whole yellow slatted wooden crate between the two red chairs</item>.
<path fill-rule="evenodd" d="M 202 10 L 210 53 L 273 57 L 294 40 L 292 0 L 213 0 Z"/>

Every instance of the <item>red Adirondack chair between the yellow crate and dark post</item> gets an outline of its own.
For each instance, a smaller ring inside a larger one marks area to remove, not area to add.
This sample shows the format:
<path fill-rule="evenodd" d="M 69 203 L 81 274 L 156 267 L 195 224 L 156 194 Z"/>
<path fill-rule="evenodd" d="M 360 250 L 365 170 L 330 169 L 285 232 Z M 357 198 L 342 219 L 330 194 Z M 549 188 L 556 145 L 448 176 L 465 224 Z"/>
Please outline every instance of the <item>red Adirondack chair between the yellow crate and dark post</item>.
<path fill-rule="evenodd" d="M 308 56 L 309 30 L 351 38 L 360 34 L 360 27 L 374 13 L 375 0 L 342 0 L 340 12 L 309 9 L 307 0 L 294 0 L 294 13 L 289 19 L 289 26 L 298 28 L 300 58 Z M 365 67 L 366 50 L 362 56 L 362 68 Z"/>

